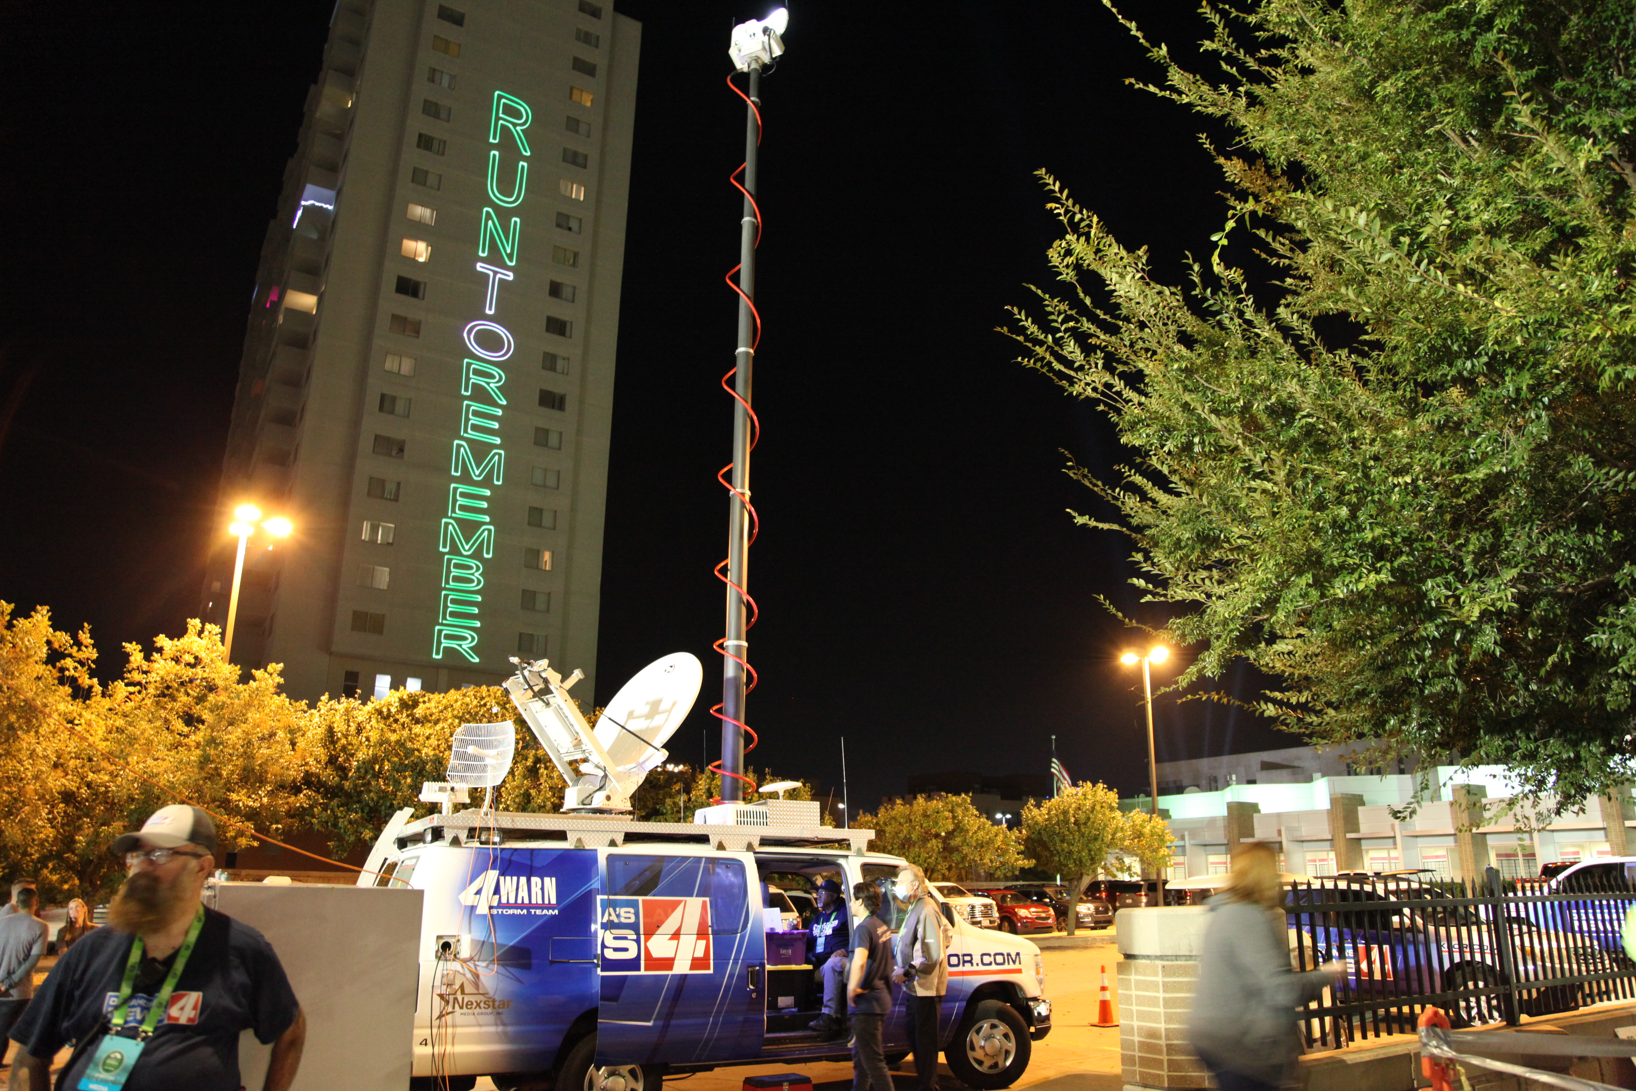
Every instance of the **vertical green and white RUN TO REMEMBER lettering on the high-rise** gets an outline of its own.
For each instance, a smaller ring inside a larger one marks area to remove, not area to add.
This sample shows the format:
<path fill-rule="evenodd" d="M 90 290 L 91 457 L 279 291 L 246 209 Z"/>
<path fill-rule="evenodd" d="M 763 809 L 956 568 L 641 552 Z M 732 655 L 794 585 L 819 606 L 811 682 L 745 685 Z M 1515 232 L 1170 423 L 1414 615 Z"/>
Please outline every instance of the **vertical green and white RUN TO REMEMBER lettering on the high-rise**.
<path fill-rule="evenodd" d="M 522 221 L 510 216 L 504 227 L 494 206 L 512 209 L 522 204 L 528 186 L 528 137 L 524 129 L 533 119 L 528 105 L 506 92 L 494 92 L 494 110 L 489 113 L 488 196 L 478 226 L 478 258 L 488 258 L 491 244 L 494 258 L 502 265 L 479 260 L 476 270 L 488 280 L 483 293 L 483 314 L 488 317 L 466 324 L 463 339 L 470 353 L 460 366 L 460 438 L 450 453 L 448 512 L 437 532 L 437 550 L 442 554 L 443 582 L 437 604 L 437 626 L 432 630 L 432 658 L 442 659 L 445 651 L 456 651 L 478 662 L 478 641 L 483 630 L 483 563 L 494 558 L 494 523 L 489 519 L 489 497 L 506 478 L 506 448 L 501 442 L 501 417 L 506 412 L 504 363 L 517 348 L 510 330 L 494 321 L 499 309 L 501 285 L 514 280 L 517 265 L 517 240 Z M 504 160 L 510 159 L 515 144 L 519 159 L 510 170 L 510 193 L 501 193 Z M 506 150 L 507 155 L 502 155 Z"/>

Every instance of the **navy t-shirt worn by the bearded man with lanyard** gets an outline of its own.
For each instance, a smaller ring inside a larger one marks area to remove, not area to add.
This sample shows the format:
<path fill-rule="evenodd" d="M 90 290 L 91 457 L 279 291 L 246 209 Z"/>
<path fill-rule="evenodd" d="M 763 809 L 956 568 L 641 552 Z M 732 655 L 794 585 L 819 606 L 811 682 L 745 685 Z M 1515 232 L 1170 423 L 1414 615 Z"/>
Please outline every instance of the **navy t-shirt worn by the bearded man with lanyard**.
<path fill-rule="evenodd" d="M 87 932 L 69 947 L 34 993 L 11 1039 L 34 1057 L 52 1057 L 69 1042 L 75 1055 L 59 1088 L 77 1088 L 95 1039 L 106 1027 L 124 980 L 133 937 L 111 927 Z M 126 1008 L 126 1026 L 139 1027 L 173 955 L 144 960 Z M 249 924 L 204 909 L 193 955 L 170 994 L 170 1008 L 137 1060 L 126 1091 L 239 1091 L 239 1032 L 275 1042 L 296 1019 L 296 994 L 273 945 Z"/>

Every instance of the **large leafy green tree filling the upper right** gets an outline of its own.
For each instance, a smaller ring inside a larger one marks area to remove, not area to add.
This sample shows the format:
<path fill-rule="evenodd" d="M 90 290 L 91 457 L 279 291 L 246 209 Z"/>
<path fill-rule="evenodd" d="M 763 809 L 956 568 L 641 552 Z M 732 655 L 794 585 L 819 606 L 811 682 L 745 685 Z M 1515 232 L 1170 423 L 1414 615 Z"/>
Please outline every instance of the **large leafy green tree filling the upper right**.
<path fill-rule="evenodd" d="M 1135 543 L 1178 685 L 1242 656 L 1314 741 L 1629 782 L 1636 0 L 1206 15 L 1219 77 L 1148 46 L 1234 147 L 1188 285 L 1045 178 L 1067 294 L 1011 332 L 1134 451 L 1070 468 L 1078 522 Z"/>

